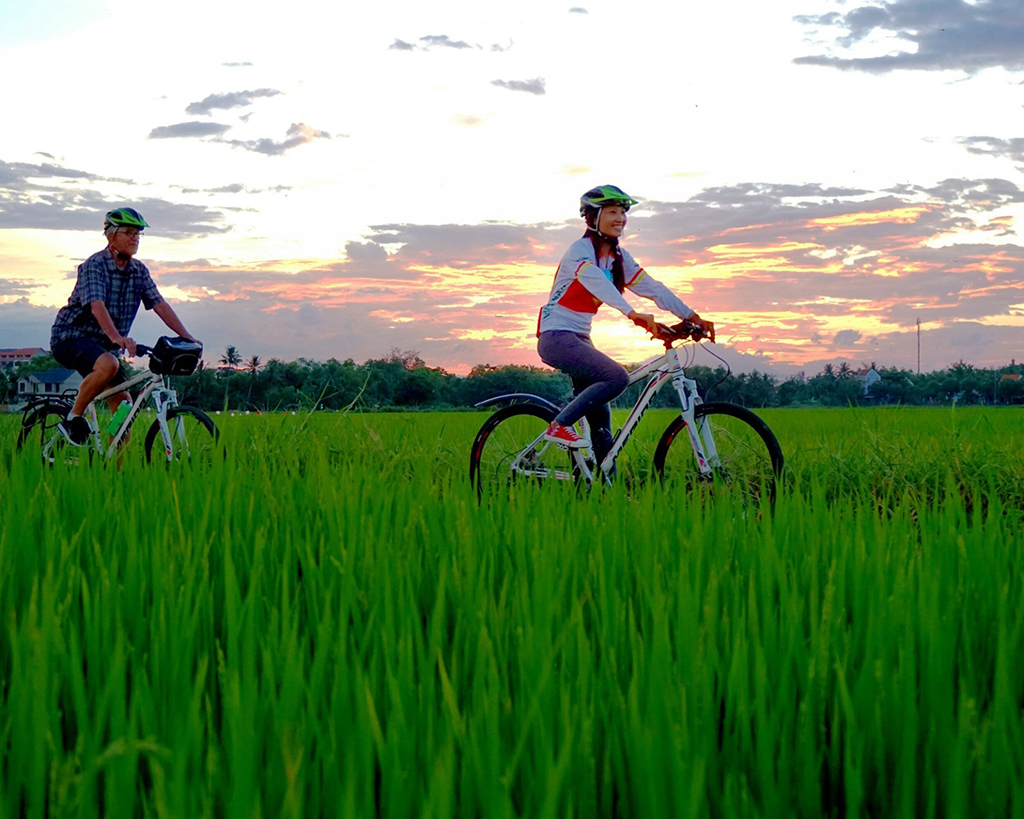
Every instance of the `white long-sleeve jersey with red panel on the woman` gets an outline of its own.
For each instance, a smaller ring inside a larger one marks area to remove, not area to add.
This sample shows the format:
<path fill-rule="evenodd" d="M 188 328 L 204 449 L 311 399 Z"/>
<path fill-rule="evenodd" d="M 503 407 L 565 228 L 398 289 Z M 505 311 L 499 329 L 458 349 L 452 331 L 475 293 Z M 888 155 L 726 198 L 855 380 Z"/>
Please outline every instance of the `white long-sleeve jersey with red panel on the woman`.
<path fill-rule="evenodd" d="M 650 299 L 658 307 L 679 318 L 689 318 L 694 310 L 671 290 L 647 274 L 625 249 L 623 272 L 626 288 L 638 296 Z M 602 304 L 609 304 L 623 315 L 629 315 L 633 307 L 615 290 L 611 281 L 612 257 L 597 258 L 594 243 L 584 236 L 573 242 L 565 252 L 555 281 L 551 286 L 548 302 L 541 308 L 537 334 L 549 330 L 567 330 L 589 336 L 594 313 Z"/>

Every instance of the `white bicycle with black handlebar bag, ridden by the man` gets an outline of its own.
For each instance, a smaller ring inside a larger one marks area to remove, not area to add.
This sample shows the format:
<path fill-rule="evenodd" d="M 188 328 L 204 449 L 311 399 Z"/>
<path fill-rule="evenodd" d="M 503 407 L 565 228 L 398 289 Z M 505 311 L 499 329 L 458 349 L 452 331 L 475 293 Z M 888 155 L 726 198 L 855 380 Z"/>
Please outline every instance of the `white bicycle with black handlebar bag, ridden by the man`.
<path fill-rule="evenodd" d="M 165 336 L 154 347 L 137 344 L 136 349 L 139 355 L 150 356 L 150 367 L 135 377 L 103 390 L 90 401 L 85 411 L 89 424 L 86 443 L 71 445 L 56 428 L 71 410 L 74 396 L 51 396 L 35 400 L 25 407 L 17 436 L 18 450 L 36 449 L 47 464 L 77 463 L 83 457 L 111 460 L 119 454 L 127 440 L 128 431 L 148 400 L 157 417 L 145 435 L 146 462 L 202 463 L 212 460 L 214 452 L 220 451 L 217 427 L 202 410 L 179 404 L 177 393 L 167 381 L 168 376 L 191 375 L 199 365 L 203 345 Z M 96 404 L 132 387 L 141 389 L 132 401 L 128 415 L 111 433 L 110 442 L 104 446 Z"/>

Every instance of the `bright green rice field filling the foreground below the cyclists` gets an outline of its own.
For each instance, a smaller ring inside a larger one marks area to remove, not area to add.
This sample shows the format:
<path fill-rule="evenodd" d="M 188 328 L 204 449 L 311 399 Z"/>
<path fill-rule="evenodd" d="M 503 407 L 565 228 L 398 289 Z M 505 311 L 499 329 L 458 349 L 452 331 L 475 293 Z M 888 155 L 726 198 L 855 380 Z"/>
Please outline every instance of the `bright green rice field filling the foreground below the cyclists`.
<path fill-rule="evenodd" d="M 0 819 L 1024 816 L 1024 412 L 759 413 L 774 510 L 477 503 L 482 413 L 0 417 Z"/>

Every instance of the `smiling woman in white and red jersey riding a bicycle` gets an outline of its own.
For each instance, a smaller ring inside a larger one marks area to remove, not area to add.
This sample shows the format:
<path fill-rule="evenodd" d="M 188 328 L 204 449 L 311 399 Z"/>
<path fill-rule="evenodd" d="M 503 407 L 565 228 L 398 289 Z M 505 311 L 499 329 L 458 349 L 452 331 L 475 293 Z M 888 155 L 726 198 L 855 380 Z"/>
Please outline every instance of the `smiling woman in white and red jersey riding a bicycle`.
<path fill-rule="evenodd" d="M 629 289 L 652 300 L 663 310 L 689 319 L 715 340 L 715 325 L 706 321 L 660 282 L 656 282 L 620 247 L 626 212 L 637 201 L 614 185 L 600 185 L 580 199 L 580 215 L 587 231 L 565 252 L 548 302 L 541 308 L 537 350 L 541 360 L 572 380 L 574 398 L 551 423 L 545 437 L 570 448 L 591 447 L 598 463 L 611 448 L 611 411 L 608 401 L 629 385 L 625 368 L 595 349 L 590 340 L 594 313 L 609 304 L 623 315 L 654 332 L 654 316 L 633 309 L 623 297 Z M 587 418 L 593 441 L 572 429 Z"/>

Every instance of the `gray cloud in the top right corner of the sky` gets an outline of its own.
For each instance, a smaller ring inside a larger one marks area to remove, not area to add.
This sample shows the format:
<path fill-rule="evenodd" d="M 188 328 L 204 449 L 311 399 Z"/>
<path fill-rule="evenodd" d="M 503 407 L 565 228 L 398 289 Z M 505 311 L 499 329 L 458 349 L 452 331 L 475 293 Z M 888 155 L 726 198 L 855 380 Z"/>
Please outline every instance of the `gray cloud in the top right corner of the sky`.
<path fill-rule="evenodd" d="M 1019 0 L 893 0 L 795 19 L 831 32 L 829 53 L 798 57 L 794 61 L 800 64 L 870 73 L 904 69 L 975 73 L 995 67 L 1024 71 L 1024 4 Z M 836 46 L 839 51 L 868 47 L 888 53 L 835 53 Z"/>

